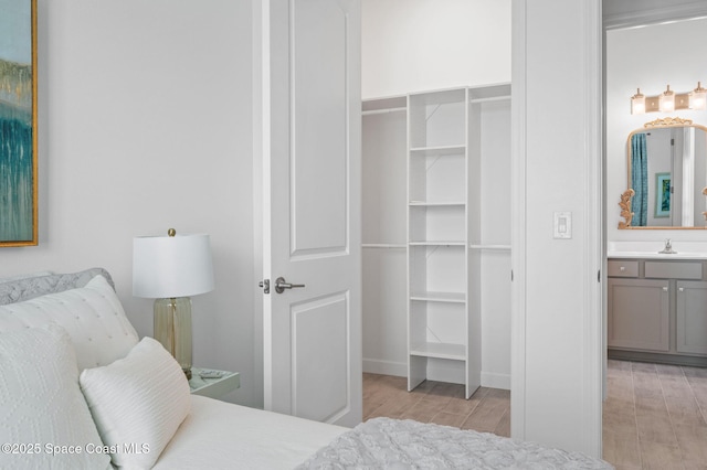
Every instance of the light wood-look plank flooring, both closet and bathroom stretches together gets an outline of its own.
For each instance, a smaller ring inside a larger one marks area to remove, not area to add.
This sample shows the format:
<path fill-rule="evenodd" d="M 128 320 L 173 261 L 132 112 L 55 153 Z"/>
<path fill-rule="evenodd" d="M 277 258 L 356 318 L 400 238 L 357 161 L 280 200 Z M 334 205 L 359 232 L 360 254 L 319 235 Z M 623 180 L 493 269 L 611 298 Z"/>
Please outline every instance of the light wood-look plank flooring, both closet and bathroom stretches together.
<path fill-rule="evenodd" d="M 707 368 L 609 361 L 603 458 L 616 470 L 707 470 Z M 363 419 L 386 416 L 510 435 L 510 393 L 363 374 Z"/>

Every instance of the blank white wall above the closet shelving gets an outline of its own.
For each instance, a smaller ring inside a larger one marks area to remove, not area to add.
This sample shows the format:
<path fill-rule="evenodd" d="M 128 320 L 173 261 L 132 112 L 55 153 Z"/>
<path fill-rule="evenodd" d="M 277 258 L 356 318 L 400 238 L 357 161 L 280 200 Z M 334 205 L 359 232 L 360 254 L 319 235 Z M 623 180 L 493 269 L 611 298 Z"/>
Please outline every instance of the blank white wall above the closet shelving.
<path fill-rule="evenodd" d="M 362 0 L 361 97 L 510 81 L 509 0 Z"/>

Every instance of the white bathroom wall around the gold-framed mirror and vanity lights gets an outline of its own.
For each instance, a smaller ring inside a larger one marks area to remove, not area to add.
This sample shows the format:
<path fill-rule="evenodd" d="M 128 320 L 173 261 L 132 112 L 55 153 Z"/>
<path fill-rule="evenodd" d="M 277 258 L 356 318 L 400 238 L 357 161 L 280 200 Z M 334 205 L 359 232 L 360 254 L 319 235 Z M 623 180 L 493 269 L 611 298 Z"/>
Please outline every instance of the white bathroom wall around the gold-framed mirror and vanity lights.
<path fill-rule="evenodd" d="M 707 42 L 707 19 L 653 24 L 606 32 L 606 236 L 610 242 L 661 242 L 664 238 L 699 241 L 693 231 L 620 231 L 619 199 L 627 188 L 626 139 L 645 122 L 680 117 L 707 125 L 707 111 L 678 110 L 631 115 L 631 96 L 641 88 L 646 96 L 659 95 L 667 84 L 687 93 L 697 82 L 707 83 L 707 62 L 695 60 L 690 47 L 676 44 Z M 652 182 L 650 182 L 652 184 Z M 652 213 L 652 211 L 650 211 Z"/>

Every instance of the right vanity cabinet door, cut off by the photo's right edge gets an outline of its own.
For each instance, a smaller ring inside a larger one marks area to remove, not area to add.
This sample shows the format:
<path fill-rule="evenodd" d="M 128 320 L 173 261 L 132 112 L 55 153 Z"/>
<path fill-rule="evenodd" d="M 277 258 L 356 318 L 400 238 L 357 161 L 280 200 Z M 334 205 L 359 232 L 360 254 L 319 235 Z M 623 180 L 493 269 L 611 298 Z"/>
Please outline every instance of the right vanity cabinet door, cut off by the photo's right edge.
<path fill-rule="evenodd" d="M 677 282 L 677 352 L 707 354 L 707 282 Z"/>

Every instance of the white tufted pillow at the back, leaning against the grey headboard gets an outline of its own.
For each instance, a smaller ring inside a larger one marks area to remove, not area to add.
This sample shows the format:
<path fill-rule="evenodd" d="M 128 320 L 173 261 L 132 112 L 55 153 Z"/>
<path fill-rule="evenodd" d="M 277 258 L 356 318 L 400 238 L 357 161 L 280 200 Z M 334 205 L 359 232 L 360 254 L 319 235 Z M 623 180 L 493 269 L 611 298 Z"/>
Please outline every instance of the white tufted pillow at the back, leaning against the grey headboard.
<path fill-rule="evenodd" d="M 68 332 L 80 371 L 125 357 L 139 340 L 115 290 L 103 276 L 78 289 L 0 306 L 0 332 L 52 322 Z"/>

